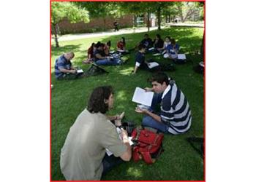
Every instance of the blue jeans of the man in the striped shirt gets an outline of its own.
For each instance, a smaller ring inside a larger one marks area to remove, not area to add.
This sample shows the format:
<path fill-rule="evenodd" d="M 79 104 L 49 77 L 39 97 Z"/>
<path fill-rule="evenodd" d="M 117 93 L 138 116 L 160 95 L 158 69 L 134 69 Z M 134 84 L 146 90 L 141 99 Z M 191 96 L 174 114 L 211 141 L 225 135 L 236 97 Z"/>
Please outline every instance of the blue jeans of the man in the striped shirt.
<path fill-rule="evenodd" d="M 153 100 L 151 103 L 151 107 L 149 111 L 155 111 L 157 108 L 157 105 L 161 103 L 162 101 L 162 93 L 157 94 L 154 93 Z M 162 122 L 157 122 L 155 119 L 153 119 L 151 116 L 144 116 L 142 120 L 142 125 L 144 127 L 152 127 L 154 129 L 159 130 L 160 132 L 167 132 L 168 126 Z"/>

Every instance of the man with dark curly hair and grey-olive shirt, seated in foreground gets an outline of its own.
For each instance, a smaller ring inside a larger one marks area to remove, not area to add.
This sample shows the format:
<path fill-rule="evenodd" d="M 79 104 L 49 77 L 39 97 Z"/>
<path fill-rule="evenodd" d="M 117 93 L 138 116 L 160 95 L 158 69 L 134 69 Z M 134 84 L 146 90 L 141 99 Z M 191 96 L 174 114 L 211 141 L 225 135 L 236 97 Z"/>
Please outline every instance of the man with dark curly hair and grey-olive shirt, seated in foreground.
<path fill-rule="evenodd" d="M 61 173 L 67 181 L 99 181 L 102 175 L 132 157 L 127 131 L 117 132 L 107 116 L 113 108 L 113 88 L 97 87 L 91 93 L 88 106 L 69 129 L 61 149 Z M 113 154 L 108 156 L 106 149 Z"/>

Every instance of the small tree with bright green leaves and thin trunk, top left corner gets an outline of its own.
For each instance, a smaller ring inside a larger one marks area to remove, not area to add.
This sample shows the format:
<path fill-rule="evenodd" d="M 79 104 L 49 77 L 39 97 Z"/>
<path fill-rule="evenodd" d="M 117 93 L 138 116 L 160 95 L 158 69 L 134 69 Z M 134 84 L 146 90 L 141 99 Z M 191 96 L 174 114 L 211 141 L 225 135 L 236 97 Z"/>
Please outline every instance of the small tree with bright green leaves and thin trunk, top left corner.
<path fill-rule="evenodd" d="M 78 23 L 83 21 L 84 23 L 89 22 L 89 13 L 86 9 L 77 7 L 74 3 L 68 1 L 52 1 L 51 2 L 51 25 L 54 28 L 54 36 L 56 47 L 59 47 L 58 41 L 58 23 L 63 20 L 64 17 L 70 21 L 70 23 Z"/>

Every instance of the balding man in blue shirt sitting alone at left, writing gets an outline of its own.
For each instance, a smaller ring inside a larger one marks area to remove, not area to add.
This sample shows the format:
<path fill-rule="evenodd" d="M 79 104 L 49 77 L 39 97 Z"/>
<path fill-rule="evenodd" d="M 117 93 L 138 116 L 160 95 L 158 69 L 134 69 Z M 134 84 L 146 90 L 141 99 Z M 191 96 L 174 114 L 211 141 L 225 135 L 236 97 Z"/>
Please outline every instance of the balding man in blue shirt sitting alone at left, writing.
<path fill-rule="evenodd" d="M 71 60 L 74 57 L 74 52 L 66 52 L 56 59 L 54 66 L 56 79 L 77 79 L 83 76 L 83 73 L 78 74 L 77 69 L 72 66 Z"/>

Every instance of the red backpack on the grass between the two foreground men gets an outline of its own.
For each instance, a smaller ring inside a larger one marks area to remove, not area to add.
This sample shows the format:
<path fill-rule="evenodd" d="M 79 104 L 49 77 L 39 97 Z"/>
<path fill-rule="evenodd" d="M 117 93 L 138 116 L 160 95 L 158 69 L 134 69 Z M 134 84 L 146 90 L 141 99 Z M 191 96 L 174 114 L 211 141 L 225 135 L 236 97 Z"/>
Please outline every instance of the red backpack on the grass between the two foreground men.
<path fill-rule="evenodd" d="M 135 162 L 143 159 L 148 165 L 153 164 L 163 151 L 163 139 L 163 133 L 135 128 L 132 131 L 132 142 L 135 143 L 132 148 L 132 159 Z"/>

